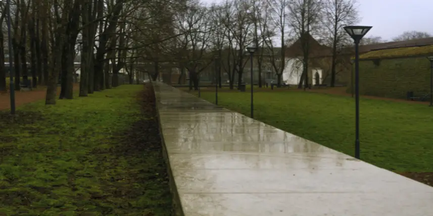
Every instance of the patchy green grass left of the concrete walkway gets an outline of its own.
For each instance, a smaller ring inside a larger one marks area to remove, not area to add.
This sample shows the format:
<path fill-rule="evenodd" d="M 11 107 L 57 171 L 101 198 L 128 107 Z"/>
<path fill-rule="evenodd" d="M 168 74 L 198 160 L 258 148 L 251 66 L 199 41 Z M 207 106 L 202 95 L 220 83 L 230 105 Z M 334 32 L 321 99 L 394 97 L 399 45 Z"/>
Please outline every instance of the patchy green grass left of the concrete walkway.
<path fill-rule="evenodd" d="M 145 109 L 154 103 L 141 90 L 0 112 L 0 215 L 170 215 L 158 124 Z"/>

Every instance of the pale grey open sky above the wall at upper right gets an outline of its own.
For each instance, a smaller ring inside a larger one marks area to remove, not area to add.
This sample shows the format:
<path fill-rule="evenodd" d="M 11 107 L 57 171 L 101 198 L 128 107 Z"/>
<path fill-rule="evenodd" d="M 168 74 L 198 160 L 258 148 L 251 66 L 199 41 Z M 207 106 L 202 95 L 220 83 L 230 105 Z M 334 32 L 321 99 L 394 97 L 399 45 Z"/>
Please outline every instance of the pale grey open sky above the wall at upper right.
<path fill-rule="evenodd" d="M 201 0 L 205 3 L 221 0 Z M 366 35 L 390 40 L 404 31 L 433 34 L 433 0 L 358 0 L 360 25 L 373 28 Z"/>

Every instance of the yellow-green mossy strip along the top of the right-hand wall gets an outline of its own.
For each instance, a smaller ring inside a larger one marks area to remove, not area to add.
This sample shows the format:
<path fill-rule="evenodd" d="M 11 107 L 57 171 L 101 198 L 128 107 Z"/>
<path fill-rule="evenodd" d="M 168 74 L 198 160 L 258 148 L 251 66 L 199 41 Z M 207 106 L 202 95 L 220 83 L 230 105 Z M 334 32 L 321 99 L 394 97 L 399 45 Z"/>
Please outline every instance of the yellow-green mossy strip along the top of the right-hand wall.
<path fill-rule="evenodd" d="M 433 45 L 429 46 L 416 46 L 416 47 L 404 47 L 404 48 L 391 48 L 381 49 L 376 51 L 370 51 L 359 56 L 361 60 L 368 59 L 392 59 L 401 57 L 412 57 L 412 56 L 427 56 L 433 54 Z"/>

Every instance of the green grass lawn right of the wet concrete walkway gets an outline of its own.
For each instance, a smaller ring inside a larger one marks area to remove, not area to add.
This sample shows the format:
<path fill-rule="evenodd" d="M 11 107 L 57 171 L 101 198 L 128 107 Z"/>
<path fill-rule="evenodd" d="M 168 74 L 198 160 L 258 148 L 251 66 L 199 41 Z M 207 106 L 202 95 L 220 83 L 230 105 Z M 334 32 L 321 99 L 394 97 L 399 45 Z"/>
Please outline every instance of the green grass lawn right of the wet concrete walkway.
<path fill-rule="evenodd" d="M 197 94 L 197 92 L 196 92 Z M 215 101 L 215 93 L 202 92 Z M 286 91 L 257 92 L 255 118 L 354 155 L 355 102 L 351 97 Z M 250 93 L 221 92 L 219 105 L 250 115 Z M 433 172 L 433 108 L 360 100 L 361 159 L 396 172 Z"/>

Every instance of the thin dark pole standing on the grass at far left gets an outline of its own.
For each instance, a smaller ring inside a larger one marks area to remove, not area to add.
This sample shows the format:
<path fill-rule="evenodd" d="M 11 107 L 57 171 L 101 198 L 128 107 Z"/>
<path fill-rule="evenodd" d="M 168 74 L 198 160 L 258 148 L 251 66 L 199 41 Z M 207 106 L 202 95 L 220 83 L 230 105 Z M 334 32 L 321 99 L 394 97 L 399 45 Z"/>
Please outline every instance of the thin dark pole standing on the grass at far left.
<path fill-rule="evenodd" d="M 8 47 L 9 47 L 9 87 L 11 91 L 11 114 L 15 115 L 15 83 L 14 83 L 14 49 L 12 47 L 11 37 L 11 0 L 6 1 L 6 7 L 8 8 Z"/>

